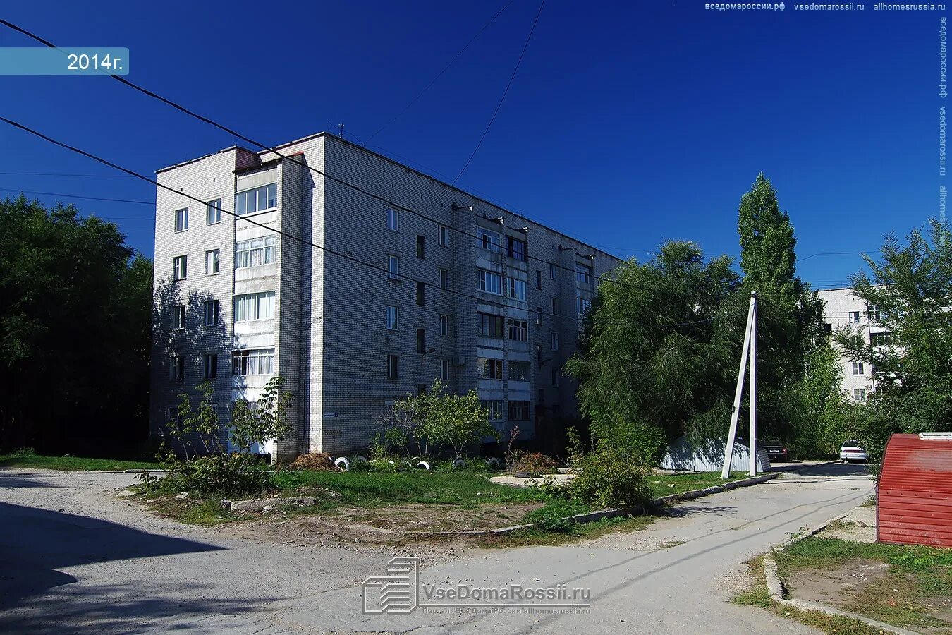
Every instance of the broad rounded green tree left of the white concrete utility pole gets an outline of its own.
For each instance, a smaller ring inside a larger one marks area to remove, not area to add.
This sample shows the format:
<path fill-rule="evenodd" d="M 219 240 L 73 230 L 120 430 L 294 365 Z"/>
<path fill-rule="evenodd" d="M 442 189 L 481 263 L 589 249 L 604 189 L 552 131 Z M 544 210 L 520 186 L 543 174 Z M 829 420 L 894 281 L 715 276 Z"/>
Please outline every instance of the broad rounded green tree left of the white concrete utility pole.
<path fill-rule="evenodd" d="M 739 284 L 726 256 L 705 263 L 693 243 L 669 242 L 599 285 L 565 364 L 595 441 L 654 463 L 683 434 L 723 435 L 744 337 Z"/>

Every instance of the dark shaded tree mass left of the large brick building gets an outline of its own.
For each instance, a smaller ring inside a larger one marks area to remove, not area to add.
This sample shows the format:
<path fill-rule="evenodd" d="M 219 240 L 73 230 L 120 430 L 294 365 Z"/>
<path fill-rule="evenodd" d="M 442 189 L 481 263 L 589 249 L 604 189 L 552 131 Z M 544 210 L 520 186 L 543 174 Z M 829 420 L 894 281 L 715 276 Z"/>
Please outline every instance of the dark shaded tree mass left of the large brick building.
<path fill-rule="evenodd" d="M 0 201 L 0 447 L 145 439 L 151 286 L 114 224 Z"/>

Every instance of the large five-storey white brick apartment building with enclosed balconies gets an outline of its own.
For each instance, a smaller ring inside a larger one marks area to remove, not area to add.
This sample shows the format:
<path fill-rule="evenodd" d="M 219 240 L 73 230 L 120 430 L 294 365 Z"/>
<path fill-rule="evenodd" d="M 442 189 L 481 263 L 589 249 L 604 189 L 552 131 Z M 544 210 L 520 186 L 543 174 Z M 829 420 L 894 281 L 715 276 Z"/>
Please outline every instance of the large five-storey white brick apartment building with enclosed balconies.
<path fill-rule="evenodd" d="M 158 171 L 182 194 L 157 190 L 153 431 L 205 379 L 226 414 L 274 374 L 295 395 L 282 456 L 366 447 L 436 378 L 523 438 L 574 414 L 562 366 L 617 258 L 327 133 L 277 150 Z"/>

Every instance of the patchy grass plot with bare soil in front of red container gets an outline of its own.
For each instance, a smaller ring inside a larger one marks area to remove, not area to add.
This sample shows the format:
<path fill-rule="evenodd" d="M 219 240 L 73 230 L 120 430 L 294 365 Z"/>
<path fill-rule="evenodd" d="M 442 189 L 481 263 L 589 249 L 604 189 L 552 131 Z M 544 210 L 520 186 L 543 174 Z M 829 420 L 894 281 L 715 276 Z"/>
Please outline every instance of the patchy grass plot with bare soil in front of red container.
<path fill-rule="evenodd" d="M 845 610 L 886 624 L 952 632 L 952 549 L 810 537 L 776 558 L 784 582 L 796 583 L 798 574 L 810 571 L 842 579 L 838 605 Z M 863 570 L 877 572 L 861 576 Z"/>

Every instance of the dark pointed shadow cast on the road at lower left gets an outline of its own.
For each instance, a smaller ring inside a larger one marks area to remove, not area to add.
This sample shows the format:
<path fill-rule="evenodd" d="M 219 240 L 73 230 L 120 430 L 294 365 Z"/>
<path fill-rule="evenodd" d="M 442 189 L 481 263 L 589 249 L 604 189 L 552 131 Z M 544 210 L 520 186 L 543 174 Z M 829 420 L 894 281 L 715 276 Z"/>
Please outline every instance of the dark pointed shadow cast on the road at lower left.
<path fill-rule="evenodd" d="M 200 553 L 223 547 L 150 534 L 87 516 L 0 503 L 0 611 L 28 604 L 31 597 L 76 582 L 57 569 L 131 558 Z M 71 592 L 71 591 L 70 591 Z M 89 595 L 88 589 L 80 590 Z M 134 602 L 146 602 L 139 598 Z M 95 606 L 90 599 L 90 610 Z M 30 607 L 35 617 L 36 607 Z M 50 613 L 57 613 L 50 606 Z M 96 606 L 95 610 L 101 610 Z M 0 632 L 27 632 L 0 617 Z"/>

